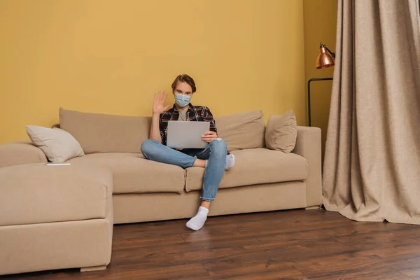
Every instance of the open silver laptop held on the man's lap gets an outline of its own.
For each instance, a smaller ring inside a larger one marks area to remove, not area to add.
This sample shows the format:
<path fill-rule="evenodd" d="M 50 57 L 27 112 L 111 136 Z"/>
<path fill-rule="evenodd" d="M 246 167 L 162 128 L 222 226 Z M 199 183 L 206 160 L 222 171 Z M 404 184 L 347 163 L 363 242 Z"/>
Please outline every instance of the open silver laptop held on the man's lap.
<path fill-rule="evenodd" d="M 170 148 L 206 148 L 208 143 L 202 141 L 202 136 L 209 130 L 209 122 L 169 120 L 167 146 Z"/>

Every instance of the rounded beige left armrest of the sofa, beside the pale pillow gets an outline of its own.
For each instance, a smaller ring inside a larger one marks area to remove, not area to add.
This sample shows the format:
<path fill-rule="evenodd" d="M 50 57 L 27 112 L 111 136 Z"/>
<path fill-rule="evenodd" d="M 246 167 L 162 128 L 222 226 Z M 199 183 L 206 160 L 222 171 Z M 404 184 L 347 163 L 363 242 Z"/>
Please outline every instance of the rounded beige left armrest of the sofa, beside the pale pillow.
<path fill-rule="evenodd" d="M 0 167 L 48 162 L 43 151 L 30 141 L 0 145 Z"/>

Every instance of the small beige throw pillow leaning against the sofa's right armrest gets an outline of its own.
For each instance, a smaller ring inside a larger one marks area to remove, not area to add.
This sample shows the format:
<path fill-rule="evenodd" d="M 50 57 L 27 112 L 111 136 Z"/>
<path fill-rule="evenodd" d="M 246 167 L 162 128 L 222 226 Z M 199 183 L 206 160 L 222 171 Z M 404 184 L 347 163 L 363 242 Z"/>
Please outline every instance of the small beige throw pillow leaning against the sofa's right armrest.
<path fill-rule="evenodd" d="M 295 148 L 296 137 L 296 117 L 292 110 L 282 116 L 269 116 L 265 129 L 265 146 L 267 148 L 290 153 Z"/>

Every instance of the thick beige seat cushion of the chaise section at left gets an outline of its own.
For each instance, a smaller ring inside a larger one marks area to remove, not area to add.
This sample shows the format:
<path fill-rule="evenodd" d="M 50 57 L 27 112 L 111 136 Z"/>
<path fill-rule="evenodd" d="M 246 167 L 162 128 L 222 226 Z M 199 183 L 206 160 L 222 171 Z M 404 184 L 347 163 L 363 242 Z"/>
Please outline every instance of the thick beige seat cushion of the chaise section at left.
<path fill-rule="evenodd" d="M 112 174 L 85 165 L 0 168 L 0 225 L 106 218 Z"/>

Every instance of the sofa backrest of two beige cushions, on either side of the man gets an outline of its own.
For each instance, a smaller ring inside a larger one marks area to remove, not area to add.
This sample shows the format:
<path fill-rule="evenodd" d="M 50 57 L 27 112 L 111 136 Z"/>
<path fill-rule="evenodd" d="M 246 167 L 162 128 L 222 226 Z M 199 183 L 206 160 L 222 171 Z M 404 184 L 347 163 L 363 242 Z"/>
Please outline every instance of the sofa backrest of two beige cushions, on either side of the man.
<path fill-rule="evenodd" d="M 255 110 L 215 118 L 218 136 L 228 151 L 265 146 L 262 111 Z M 83 113 L 59 109 L 59 127 L 73 135 L 85 154 L 140 153 L 148 139 L 151 118 Z"/>

